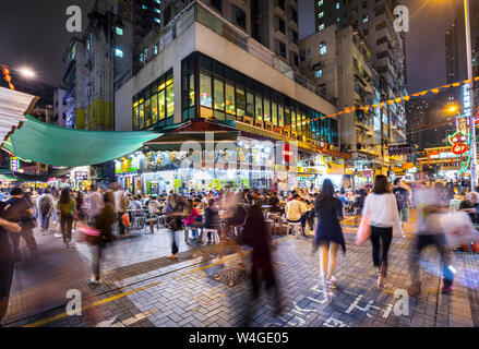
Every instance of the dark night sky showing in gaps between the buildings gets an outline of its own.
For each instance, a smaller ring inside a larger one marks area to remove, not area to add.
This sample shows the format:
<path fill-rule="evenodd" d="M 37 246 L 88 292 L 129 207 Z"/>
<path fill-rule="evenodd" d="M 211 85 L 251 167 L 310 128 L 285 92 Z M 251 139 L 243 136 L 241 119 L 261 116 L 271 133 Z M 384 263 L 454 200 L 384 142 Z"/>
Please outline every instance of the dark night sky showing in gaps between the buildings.
<path fill-rule="evenodd" d="M 313 1 L 298 0 L 300 38 L 314 31 Z M 444 34 L 454 20 L 453 3 L 458 1 L 406 0 L 411 14 L 410 32 L 406 35 L 409 92 L 445 83 Z M 0 63 L 31 67 L 40 81 L 59 85 L 64 72 L 61 59 L 72 36 L 65 29 L 65 10 L 77 4 L 85 17 L 94 0 L 1 2 Z"/>

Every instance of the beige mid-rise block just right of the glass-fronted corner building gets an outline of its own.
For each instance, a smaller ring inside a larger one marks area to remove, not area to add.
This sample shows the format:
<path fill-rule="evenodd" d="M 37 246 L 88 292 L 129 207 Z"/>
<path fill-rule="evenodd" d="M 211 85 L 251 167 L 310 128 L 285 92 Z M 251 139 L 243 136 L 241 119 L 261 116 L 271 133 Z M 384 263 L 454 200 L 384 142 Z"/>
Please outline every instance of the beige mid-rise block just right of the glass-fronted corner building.
<path fill-rule="evenodd" d="M 339 110 L 355 109 L 338 117 L 339 140 L 343 149 L 351 153 L 355 168 L 369 171 L 390 165 L 384 158 L 384 141 L 388 140 L 390 130 L 381 119 L 386 108 L 383 112 L 356 109 L 380 103 L 379 74 L 372 67 L 372 55 L 352 26 L 338 29 L 333 24 L 300 41 L 301 73 Z"/>

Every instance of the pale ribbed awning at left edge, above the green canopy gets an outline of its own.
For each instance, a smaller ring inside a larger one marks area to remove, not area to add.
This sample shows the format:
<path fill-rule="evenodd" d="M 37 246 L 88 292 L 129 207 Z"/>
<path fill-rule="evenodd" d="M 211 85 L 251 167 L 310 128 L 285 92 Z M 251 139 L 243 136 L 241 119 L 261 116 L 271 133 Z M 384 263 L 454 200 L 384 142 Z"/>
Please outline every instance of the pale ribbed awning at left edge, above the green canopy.
<path fill-rule="evenodd" d="M 33 110 L 38 97 L 22 92 L 0 87 L 0 142 Z"/>

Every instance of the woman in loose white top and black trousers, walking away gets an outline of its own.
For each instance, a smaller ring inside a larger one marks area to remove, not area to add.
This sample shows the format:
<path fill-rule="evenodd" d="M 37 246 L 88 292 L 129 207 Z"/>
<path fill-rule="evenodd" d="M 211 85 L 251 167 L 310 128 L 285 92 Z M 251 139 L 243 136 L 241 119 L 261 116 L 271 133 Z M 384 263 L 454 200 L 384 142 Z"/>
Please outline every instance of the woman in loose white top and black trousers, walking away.
<path fill-rule="evenodd" d="M 378 288 L 382 289 L 387 275 L 387 253 L 393 240 L 393 226 L 396 236 L 403 236 L 396 197 L 385 176 L 375 177 L 372 192 L 366 197 L 362 216 L 368 217 L 371 225 L 372 261 L 378 267 Z"/>

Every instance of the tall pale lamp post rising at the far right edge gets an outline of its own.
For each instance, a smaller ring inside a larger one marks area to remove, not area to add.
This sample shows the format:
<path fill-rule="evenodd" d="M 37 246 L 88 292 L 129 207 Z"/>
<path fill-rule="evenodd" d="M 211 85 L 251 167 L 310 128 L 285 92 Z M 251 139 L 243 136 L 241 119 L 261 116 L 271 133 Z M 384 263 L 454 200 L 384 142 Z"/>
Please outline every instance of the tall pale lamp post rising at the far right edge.
<path fill-rule="evenodd" d="M 470 128 L 470 191 L 477 185 L 477 144 L 476 144 L 476 124 L 474 120 L 474 94 L 472 94 L 472 55 L 470 43 L 470 20 L 469 20 L 469 0 L 464 0 L 464 17 L 466 27 L 466 51 L 467 51 L 467 79 L 469 80 L 469 98 L 470 98 L 470 111 L 468 115 L 469 128 Z"/>

